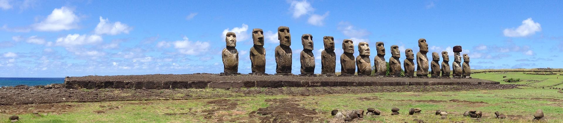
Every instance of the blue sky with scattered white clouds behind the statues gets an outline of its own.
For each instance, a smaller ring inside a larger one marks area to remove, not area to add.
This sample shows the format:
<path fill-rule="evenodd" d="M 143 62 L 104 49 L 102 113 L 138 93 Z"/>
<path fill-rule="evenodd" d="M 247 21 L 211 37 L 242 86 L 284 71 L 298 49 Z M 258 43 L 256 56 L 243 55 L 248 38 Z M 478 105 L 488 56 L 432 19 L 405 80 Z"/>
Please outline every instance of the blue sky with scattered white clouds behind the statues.
<path fill-rule="evenodd" d="M 274 74 L 278 26 L 291 30 L 294 74 L 302 34 L 314 37 L 319 58 L 323 36 L 334 37 L 337 55 L 343 39 L 368 42 L 373 50 L 384 42 L 387 52 L 399 45 L 401 61 L 404 49 L 418 51 L 418 39 L 425 38 L 430 52 L 448 51 L 451 61 L 452 47 L 462 45 L 472 69 L 561 68 L 561 4 L 0 0 L 0 77 L 219 73 L 228 31 L 237 35 L 239 72 L 247 74 L 254 28 L 264 30 L 266 72 Z"/>

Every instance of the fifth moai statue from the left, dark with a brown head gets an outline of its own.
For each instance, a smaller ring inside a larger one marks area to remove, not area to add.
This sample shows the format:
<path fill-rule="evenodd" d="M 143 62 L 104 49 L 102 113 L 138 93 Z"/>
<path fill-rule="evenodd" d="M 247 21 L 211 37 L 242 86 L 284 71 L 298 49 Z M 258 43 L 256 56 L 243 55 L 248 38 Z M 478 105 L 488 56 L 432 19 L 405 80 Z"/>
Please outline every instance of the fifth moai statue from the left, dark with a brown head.
<path fill-rule="evenodd" d="M 321 74 L 334 75 L 336 69 L 336 53 L 334 53 L 334 38 L 323 37 L 324 50 L 321 54 Z"/>

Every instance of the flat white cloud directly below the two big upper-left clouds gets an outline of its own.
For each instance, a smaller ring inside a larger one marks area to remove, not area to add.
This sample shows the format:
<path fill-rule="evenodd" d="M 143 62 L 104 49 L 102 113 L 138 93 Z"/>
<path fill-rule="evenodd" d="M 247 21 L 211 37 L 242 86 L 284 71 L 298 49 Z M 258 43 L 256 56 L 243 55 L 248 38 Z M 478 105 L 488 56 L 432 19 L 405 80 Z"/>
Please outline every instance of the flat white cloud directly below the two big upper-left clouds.
<path fill-rule="evenodd" d="M 63 47 L 73 47 L 75 45 L 85 45 L 85 44 L 97 44 L 102 42 L 102 37 L 100 35 L 80 35 L 80 34 L 69 34 L 66 37 L 58 38 L 56 45 L 61 45 Z"/>

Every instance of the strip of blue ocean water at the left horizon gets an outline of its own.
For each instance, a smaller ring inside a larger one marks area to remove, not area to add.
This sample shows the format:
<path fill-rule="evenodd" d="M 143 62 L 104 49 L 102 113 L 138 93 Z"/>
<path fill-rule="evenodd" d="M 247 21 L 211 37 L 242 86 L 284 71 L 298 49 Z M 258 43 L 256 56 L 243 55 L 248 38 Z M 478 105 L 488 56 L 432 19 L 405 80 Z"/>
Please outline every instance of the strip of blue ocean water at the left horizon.
<path fill-rule="evenodd" d="M 0 86 L 61 84 L 65 78 L 0 78 Z"/>

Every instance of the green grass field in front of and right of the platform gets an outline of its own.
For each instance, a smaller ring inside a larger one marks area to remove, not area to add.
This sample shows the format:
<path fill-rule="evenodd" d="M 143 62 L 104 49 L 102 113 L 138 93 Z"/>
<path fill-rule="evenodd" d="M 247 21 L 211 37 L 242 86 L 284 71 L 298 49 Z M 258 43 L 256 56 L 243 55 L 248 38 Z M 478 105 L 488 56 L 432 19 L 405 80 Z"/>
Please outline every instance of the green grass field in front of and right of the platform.
<path fill-rule="evenodd" d="M 19 122 L 260 122 L 258 117 L 249 117 L 252 111 L 270 106 L 266 99 L 291 98 L 300 102 L 300 107 L 324 112 L 316 115 L 319 122 L 332 118 L 330 111 L 357 110 L 373 107 L 382 111 L 381 116 L 366 116 L 359 122 L 414 122 L 414 119 L 425 122 L 477 122 L 469 117 L 461 116 L 464 111 L 482 111 L 481 122 L 530 122 L 533 113 L 542 109 L 547 122 L 563 122 L 563 94 L 549 86 L 563 82 L 558 75 L 527 75 L 522 72 L 488 72 L 473 74 L 473 78 L 501 81 L 501 84 L 522 84 L 524 89 L 477 90 L 468 92 L 431 92 L 431 93 L 365 93 L 365 94 L 328 94 L 319 96 L 265 96 L 228 99 L 235 103 L 235 108 L 227 110 L 218 104 L 208 101 L 217 99 L 191 99 L 185 101 L 120 101 L 96 103 L 64 103 L 76 105 L 65 113 L 47 113 L 43 117 L 34 117 L 31 113 L 19 115 Z M 507 78 L 503 78 L 507 76 Z M 506 83 L 503 79 L 515 78 L 518 83 Z M 535 82 L 535 83 L 534 83 Z M 530 88 L 535 87 L 535 88 Z M 542 87 L 546 89 L 542 89 Z M 563 88 L 563 85 L 554 86 Z M 209 90 L 205 90 L 208 92 Z M 221 90 L 225 91 L 225 90 Z M 212 93 L 212 92 L 210 92 Z M 457 99 L 459 101 L 450 101 Z M 108 109 L 108 107 L 117 107 Z M 391 108 L 400 108 L 400 115 L 391 116 Z M 409 108 L 421 108 L 419 115 L 408 115 Z M 212 118 L 205 118 L 205 111 L 218 110 Z M 448 111 L 448 119 L 441 120 L 435 116 L 435 110 Z M 96 113 L 95 111 L 104 111 Z M 507 119 L 494 119 L 495 111 L 507 115 Z M 180 113 L 180 115 L 167 115 Z M 185 114 L 182 114 L 185 113 Z M 6 117 L 0 122 L 10 122 L 11 115 L 0 113 Z M 220 120 L 219 120 L 220 119 Z"/>

